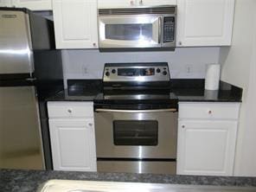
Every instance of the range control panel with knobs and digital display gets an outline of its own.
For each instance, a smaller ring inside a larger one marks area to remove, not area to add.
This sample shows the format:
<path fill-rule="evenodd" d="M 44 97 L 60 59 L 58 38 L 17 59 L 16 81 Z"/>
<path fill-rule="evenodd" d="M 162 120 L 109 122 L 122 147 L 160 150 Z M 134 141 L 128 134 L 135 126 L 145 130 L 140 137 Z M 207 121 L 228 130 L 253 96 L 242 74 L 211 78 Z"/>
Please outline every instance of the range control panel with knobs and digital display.
<path fill-rule="evenodd" d="M 103 81 L 169 81 L 168 63 L 106 63 Z"/>

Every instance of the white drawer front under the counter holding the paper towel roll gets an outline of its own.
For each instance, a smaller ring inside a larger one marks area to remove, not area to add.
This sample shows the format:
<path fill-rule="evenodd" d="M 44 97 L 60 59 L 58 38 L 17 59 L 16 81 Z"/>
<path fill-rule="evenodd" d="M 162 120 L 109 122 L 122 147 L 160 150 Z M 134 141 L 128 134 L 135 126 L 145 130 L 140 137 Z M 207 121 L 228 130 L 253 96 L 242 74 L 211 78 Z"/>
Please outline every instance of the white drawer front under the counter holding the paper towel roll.
<path fill-rule="evenodd" d="M 240 103 L 180 102 L 179 118 L 238 119 Z"/>

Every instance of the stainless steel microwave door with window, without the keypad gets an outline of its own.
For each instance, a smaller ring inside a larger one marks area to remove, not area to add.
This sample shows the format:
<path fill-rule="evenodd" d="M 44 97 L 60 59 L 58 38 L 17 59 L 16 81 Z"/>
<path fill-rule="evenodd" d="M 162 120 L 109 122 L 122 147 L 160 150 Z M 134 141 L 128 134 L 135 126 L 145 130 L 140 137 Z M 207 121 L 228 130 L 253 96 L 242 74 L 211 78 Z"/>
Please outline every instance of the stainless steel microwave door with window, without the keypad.
<path fill-rule="evenodd" d="M 161 47 L 162 16 L 99 16 L 99 48 Z"/>

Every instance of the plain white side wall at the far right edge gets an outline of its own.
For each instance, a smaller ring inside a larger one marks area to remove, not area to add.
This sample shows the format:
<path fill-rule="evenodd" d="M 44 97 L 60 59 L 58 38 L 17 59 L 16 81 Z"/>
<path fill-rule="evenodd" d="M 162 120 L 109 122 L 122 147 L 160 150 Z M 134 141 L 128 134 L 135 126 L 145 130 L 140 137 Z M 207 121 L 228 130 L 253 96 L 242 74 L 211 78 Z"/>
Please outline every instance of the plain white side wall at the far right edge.
<path fill-rule="evenodd" d="M 221 80 L 243 88 L 234 173 L 256 176 L 256 1 L 237 0 L 231 48 L 221 48 Z"/>

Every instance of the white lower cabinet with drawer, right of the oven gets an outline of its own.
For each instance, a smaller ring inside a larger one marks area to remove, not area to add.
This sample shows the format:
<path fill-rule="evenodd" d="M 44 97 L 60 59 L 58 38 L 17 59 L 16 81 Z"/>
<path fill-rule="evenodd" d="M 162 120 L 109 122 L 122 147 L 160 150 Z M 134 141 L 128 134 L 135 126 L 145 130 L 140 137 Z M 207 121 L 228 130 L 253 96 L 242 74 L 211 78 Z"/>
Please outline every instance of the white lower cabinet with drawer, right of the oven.
<path fill-rule="evenodd" d="M 234 118 L 230 112 L 220 118 L 223 106 L 234 113 Z M 233 176 L 240 104 L 180 103 L 179 108 L 177 174 Z M 203 112 L 208 117 L 203 117 Z"/>

